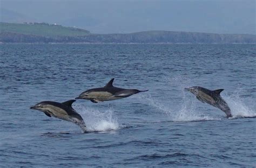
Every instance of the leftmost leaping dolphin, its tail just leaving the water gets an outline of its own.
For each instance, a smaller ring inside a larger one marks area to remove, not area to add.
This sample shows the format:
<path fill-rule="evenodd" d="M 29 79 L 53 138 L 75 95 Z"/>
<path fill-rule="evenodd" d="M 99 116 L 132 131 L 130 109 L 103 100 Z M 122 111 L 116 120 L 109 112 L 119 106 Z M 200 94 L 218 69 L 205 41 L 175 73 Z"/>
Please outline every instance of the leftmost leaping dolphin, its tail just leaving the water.
<path fill-rule="evenodd" d="M 69 100 L 63 103 L 54 101 L 42 101 L 37 103 L 35 106 L 30 107 L 30 109 L 35 109 L 43 111 L 48 117 L 56 117 L 62 120 L 70 121 L 77 124 L 83 132 L 86 132 L 86 125 L 83 118 L 72 108 L 72 103 L 76 100 Z"/>

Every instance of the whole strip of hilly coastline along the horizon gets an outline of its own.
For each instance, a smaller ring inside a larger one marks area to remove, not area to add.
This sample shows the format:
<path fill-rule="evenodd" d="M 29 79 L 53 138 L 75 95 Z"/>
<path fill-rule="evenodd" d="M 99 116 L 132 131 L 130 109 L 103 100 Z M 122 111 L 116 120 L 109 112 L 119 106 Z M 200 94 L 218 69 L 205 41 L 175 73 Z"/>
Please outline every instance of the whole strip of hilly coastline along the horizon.
<path fill-rule="evenodd" d="M 146 31 L 91 34 L 84 29 L 46 23 L 0 23 L 2 43 L 256 43 L 254 34 Z"/>

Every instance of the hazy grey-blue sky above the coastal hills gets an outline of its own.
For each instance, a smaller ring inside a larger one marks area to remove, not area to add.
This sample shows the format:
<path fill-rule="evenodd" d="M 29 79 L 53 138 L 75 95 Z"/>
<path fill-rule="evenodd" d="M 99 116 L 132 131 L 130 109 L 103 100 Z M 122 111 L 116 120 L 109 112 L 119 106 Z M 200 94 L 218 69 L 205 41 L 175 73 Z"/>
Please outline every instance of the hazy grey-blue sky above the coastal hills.
<path fill-rule="evenodd" d="M 149 30 L 256 34 L 254 0 L 0 0 L 2 22 L 47 22 L 91 33 Z"/>

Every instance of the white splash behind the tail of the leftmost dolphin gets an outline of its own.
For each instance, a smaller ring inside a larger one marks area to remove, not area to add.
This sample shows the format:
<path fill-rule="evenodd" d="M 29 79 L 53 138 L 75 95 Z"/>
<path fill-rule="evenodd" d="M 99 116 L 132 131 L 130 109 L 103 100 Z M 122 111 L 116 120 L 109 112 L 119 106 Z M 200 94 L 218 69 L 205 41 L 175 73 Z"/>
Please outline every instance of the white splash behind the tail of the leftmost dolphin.
<path fill-rule="evenodd" d="M 97 109 L 81 105 L 74 107 L 77 112 L 82 115 L 87 131 L 111 131 L 119 129 L 117 118 L 112 116 L 112 109 L 100 112 Z"/>

